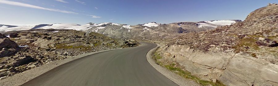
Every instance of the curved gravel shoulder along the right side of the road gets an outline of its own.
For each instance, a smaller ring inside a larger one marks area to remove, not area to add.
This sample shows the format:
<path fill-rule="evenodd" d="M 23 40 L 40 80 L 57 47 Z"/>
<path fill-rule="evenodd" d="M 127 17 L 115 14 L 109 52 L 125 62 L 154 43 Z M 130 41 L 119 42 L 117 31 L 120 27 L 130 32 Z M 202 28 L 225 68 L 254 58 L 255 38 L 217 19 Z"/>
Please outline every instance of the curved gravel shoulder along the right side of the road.
<path fill-rule="evenodd" d="M 173 81 L 175 84 L 179 85 L 179 86 L 200 86 L 200 84 L 197 84 L 196 82 L 192 81 L 192 80 L 187 80 L 185 78 L 183 78 L 182 76 L 175 74 L 174 72 L 171 72 L 170 70 L 159 66 L 154 59 L 152 59 L 152 54 L 153 52 L 160 47 L 161 45 L 156 44 L 157 46 L 153 49 L 151 49 L 146 57 L 147 57 L 147 61 L 150 63 L 150 65 L 152 67 L 154 67 L 154 69 L 156 69 L 159 73 L 161 73 L 162 75 L 164 75 L 166 78 L 168 78 L 169 80 Z"/>

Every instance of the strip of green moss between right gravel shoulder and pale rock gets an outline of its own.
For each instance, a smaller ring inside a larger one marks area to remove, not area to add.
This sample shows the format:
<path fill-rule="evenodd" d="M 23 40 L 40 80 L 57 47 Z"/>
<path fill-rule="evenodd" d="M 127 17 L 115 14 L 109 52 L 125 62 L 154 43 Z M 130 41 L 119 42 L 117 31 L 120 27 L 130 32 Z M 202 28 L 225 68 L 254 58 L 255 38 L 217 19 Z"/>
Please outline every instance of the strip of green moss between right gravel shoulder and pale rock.
<path fill-rule="evenodd" d="M 162 59 L 162 57 L 160 56 L 160 54 L 158 54 L 158 52 L 155 52 L 153 54 L 153 59 L 156 61 L 156 63 L 162 67 L 165 67 L 167 68 L 168 70 L 172 71 L 172 72 L 175 72 L 176 74 L 178 75 L 181 75 L 183 76 L 184 78 L 187 78 L 187 79 L 190 79 L 190 80 L 193 80 L 203 86 L 225 86 L 224 84 L 222 84 L 220 81 L 217 81 L 216 83 L 213 83 L 212 81 L 207 81 L 207 80 L 201 80 L 200 78 L 194 76 L 194 75 L 191 75 L 191 72 L 189 71 L 184 71 L 182 70 L 181 68 L 179 68 L 178 66 L 176 65 L 179 65 L 179 64 L 175 64 L 175 63 L 171 63 L 171 64 L 168 64 L 168 65 L 164 65 L 163 62 L 160 61 L 160 59 Z"/>

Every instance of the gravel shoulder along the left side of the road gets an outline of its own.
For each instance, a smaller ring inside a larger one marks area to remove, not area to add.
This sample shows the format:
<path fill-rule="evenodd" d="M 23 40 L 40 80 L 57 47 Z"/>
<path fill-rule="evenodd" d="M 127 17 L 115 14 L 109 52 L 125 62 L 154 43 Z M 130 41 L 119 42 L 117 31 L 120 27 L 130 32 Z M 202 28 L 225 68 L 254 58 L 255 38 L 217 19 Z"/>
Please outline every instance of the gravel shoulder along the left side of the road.
<path fill-rule="evenodd" d="M 136 46 L 136 47 L 139 47 L 139 46 Z M 133 48 L 133 47 L 128 47 L 128 48 Z M 118 49 L 125 49 L 125 48 L 118 48 Z M 24 71 L 22 73 L 15 74 L 11 77 L 7 77 L 4 80 L 0 80 L 0 84 L 2 84 L 2 86 L 19 86 L 19 85 L 22 85 L 22 84 L 28 82 L 29 80 L 32 80 L 32 79 L 36 78 L 37 76 L 39 76 L 41 74 L 44 74 L 45 72 L 50 71 L 50 70 L 54 69 L 55 67 L 63 65 L 67 62 L 71 62 L 71 61 L 74 61 L 76 59 L 86 57 L 88 55 L 97 54 L 97 53 L 110 51 L 110 50 L 116 50 L 116 49 L 107 49 L 107 50 L 91 52 L 91 53 L 87 53 L 87 54 L 80 54 L 80 55 L 77 55 L 77 56 L 74 56 L 74 57 L 49 62 L 45 65 L 35 67 L 33 69 Z"/>

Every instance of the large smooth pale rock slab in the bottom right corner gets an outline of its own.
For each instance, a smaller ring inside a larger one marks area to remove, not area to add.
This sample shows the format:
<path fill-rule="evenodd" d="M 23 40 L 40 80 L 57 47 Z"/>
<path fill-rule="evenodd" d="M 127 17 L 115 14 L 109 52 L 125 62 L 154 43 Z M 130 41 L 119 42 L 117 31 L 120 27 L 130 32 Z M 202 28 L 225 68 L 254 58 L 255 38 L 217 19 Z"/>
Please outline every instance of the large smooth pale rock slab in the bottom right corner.
<path fill-rule="evenodd" d="M 267 81 L 278 81 L 278 66 L 266 60 L 260 60 L 247 54 L 236 54 L 219 77 L 229 86 L 275 86 Z M 255 82 L 254 82 L 255 81 Z M 254 82 L 254 83 L 252 83 Z"/>

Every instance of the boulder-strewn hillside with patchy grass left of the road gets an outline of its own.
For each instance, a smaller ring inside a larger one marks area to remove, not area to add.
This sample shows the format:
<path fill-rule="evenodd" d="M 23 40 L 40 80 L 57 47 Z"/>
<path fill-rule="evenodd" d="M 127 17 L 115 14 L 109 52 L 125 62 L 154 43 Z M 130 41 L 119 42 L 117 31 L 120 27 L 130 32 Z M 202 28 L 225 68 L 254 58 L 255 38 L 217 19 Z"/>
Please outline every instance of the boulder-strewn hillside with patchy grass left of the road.
<path fill-rule="evenodd" d="M 139 45 L 133 40 L 115 40 L 95 32 L 65 29 L 33 29 L 3 34 L 0 34 L 0 77 L 79 54 Z"/>

